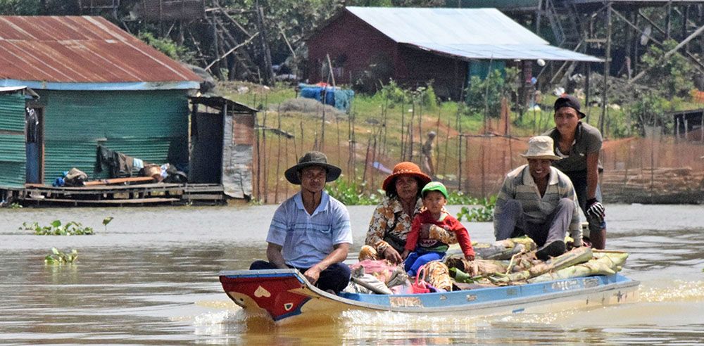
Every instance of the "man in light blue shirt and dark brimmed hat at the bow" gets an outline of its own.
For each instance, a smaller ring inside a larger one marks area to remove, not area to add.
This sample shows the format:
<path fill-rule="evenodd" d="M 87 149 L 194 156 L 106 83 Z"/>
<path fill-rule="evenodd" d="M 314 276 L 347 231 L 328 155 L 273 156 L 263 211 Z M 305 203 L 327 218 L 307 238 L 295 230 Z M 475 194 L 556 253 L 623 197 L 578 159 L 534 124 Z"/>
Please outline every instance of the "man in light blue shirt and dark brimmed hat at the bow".
<path fill-rule="evenodd" d="M 253 262 L 249 269 L 296 268 L 313 285 L 334 293 L 347 286 L 350 269 L 342 262 L 352 245 L 349 212 L 323 191 L 340 173 L 319 151 L 306 153 L 286 170 L 286 179 L 301 191 L 274 213 L 266 239 L 269 262 Z"/>

